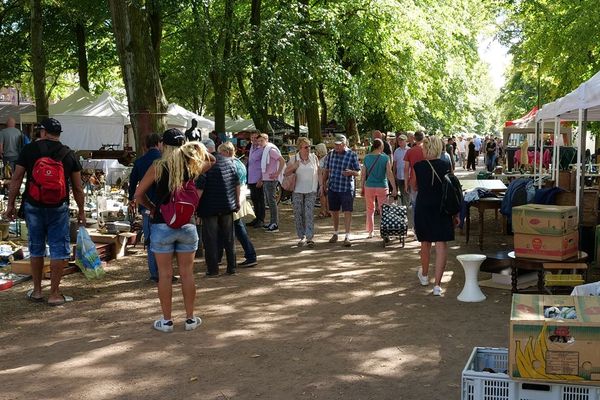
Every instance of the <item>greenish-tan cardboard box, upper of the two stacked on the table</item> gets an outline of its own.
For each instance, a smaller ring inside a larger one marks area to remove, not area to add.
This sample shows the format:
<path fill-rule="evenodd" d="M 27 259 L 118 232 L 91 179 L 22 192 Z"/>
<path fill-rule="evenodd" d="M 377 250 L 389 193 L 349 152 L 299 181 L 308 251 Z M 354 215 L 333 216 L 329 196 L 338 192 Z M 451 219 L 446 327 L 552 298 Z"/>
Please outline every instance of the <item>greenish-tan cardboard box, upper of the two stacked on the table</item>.
<path fill-rule="evenodd" d="M 577 230 L 577 207 L 526 204 L 513 207 L 512 228 L 515 233 L 562 236 Z"/>

